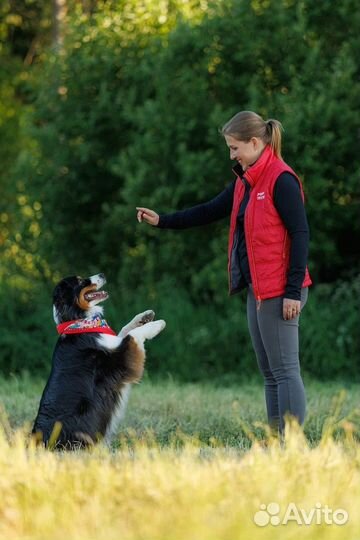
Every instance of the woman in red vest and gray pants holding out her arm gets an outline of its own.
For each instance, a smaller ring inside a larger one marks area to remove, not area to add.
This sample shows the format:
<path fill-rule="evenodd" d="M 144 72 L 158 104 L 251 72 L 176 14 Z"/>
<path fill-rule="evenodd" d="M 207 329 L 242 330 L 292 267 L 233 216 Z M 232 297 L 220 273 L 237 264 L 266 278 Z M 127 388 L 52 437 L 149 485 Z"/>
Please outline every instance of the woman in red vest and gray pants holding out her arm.
<path fill-rule="evenodd" d="M 299 363 L 299 316 L 311 279 L 307 269 L 309 228 L 304 194 L 281 158 L 277 120 L 251 111 L 231 118 L 221 133 L 236 160 L 236 179 L 209 202 L 173 214 L 137 208 L 137 219 L 160 228 L 205 225 L 230 215 L 230 294 L 247 288 L 247 318 L 265 382 L 268 421 L 284 430 L 290 414 L 305 419 Z"/>

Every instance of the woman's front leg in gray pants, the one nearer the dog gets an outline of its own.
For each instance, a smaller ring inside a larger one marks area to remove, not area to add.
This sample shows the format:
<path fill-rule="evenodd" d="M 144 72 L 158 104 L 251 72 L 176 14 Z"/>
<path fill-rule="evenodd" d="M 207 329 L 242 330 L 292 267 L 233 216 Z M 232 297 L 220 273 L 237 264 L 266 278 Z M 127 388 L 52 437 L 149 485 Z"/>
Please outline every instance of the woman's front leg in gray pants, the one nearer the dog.
<path fill-rule="evenodd" d="M 279 426 L 278 385 L 271 372 L 269 360 L 262 342 L 256 311 L 256 300 L 251 286 L 249 287 L 247 296 L 247 320 L 257 363 L 264 377 L 268 423 L 272 428 L 277 429 Z"/>

